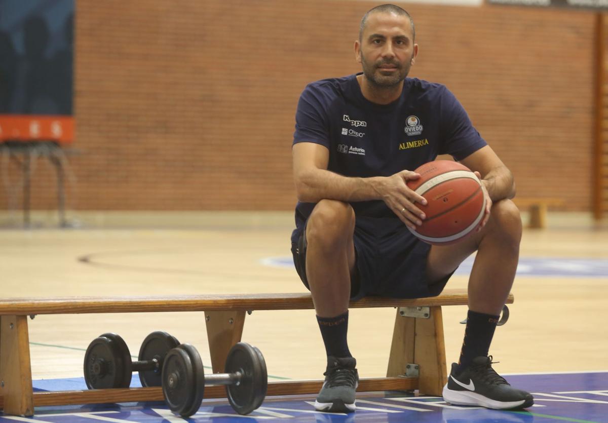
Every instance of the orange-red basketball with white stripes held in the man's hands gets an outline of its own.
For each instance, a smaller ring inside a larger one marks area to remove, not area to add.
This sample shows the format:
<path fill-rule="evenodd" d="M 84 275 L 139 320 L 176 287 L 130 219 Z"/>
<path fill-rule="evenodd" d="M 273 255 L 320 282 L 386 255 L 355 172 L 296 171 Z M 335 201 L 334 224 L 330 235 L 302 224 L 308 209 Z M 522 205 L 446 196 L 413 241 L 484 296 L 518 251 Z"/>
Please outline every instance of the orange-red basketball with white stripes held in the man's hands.
<path fill-rule="evenodd" d="M 474 232 L 486 206 L 477 176 L 450 160 L 425 163 L 415 172 L 420 178 L 407 181 L 407 186 L 426 198 L 427 205 L 416 203 L 426 219 L 410 232 L 434 245 L 454 244 Z"/>

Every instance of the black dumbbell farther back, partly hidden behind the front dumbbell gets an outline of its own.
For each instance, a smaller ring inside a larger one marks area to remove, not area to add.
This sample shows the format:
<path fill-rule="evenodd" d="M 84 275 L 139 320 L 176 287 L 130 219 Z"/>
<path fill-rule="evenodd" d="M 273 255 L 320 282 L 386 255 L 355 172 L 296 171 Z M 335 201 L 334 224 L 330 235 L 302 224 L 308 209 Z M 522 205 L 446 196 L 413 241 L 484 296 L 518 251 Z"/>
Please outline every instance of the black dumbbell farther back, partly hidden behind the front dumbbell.
<path fill-rule="evenodd" d="M 133 372 L 139 372 L 143 387 L 162 385 L 162 363 L 179 341 L 167 332 L 156 331 L 143 340 L 137 361 L 125 341 L 106 333 L 92 340 L 85 353 L 85 382 L 89 389 L 128 388 Z"/>

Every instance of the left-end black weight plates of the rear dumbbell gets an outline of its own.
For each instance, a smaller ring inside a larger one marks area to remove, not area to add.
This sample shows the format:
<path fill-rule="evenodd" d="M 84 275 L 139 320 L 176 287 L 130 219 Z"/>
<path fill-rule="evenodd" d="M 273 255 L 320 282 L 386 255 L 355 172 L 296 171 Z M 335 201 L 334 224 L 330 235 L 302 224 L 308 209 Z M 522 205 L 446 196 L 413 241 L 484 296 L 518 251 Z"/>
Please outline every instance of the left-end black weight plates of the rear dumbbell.
<path fill-rule="evenodd" d="M 100 336 L 85 353 L 85 382 L 89 389 L 122 388 L 124 368 L 116 341 Z"/>

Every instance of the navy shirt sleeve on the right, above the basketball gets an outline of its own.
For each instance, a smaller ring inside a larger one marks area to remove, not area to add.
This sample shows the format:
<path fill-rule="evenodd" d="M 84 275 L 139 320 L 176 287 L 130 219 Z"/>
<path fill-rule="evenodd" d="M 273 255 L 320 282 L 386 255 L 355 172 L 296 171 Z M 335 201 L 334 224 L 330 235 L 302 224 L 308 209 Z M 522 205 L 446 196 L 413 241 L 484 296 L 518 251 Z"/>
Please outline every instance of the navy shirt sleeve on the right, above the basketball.
<path fill-rule="evenodd" d="M 455 160 L 462 160 L 488 145 L 454 94 L 446 88 L 441 97 L 440 122 L 444 142 L 439 154 L 451 154 Z"/>

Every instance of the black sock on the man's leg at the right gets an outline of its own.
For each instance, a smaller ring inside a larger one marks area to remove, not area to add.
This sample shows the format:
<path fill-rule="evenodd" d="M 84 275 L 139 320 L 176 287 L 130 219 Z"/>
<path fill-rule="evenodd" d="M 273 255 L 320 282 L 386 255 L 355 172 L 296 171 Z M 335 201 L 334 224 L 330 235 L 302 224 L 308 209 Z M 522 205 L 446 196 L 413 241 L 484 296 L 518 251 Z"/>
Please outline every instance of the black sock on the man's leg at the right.
<path fill-rule="evenodd" d="M 475 357 L 488 356 L 499 317 L 469 310 L 466 318 L 465 340 L 463 340 L 458 360 L 458 371 L 471 364 Z"/>

